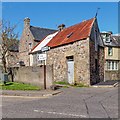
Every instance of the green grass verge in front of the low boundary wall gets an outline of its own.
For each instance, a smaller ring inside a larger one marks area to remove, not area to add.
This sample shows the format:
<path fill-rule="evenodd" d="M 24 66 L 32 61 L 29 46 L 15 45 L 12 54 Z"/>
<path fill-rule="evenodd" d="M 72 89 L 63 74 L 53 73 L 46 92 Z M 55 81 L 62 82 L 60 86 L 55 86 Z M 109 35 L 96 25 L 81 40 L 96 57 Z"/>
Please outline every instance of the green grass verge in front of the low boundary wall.
<path fill-rule="evenodd" d="M 0 84 L 0 88 L 3 90 L 40 90 L 40 87 L 17 82 L 7 82 L 6 85 Z"/>

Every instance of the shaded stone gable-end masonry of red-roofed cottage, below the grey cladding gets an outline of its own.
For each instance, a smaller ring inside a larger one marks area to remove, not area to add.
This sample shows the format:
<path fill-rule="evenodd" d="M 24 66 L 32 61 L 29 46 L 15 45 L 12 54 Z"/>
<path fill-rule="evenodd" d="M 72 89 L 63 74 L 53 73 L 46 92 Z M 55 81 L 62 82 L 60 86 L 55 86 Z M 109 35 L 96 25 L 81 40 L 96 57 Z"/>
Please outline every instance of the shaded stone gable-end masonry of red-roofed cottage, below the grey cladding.
<path fill-rule="evenodd" d="M 95 51 L 95 43 L 90 41 L 90 84 L 100 81 L 104 81 L 104 48 L 98 46 Z"/>

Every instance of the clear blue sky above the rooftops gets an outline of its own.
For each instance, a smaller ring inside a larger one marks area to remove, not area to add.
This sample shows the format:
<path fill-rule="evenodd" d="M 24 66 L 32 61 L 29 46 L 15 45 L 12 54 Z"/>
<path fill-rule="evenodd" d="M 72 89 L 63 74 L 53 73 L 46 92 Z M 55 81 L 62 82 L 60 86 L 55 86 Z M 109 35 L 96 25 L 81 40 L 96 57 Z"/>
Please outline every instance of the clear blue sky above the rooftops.
<path fill-rule="evenodd" d="M 61 23 L 68 27 L 93 18 L 97 8 L 100 31 L 118 33 L 117 2 L 3 2 L 2 18 L 17 24 L 20 37 L 25 17 L 33 26 L 57 29 Z"/>

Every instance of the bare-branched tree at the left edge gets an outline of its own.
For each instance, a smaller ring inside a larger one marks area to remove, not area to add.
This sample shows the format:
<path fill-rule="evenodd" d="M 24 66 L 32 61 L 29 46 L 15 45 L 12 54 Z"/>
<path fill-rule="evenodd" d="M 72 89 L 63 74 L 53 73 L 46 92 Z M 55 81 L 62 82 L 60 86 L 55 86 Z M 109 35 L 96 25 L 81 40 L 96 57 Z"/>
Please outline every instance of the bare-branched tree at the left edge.
<path fill-rule="evenodd" d="M 7 73 L 7 59 L 11 56 L 11 48 L 18 45 L 18 33 L 15 33 L 16 25 L 11 26 L 10 22 L 1 22 L 1 58 L 3 64 L 3 72 Z"/>

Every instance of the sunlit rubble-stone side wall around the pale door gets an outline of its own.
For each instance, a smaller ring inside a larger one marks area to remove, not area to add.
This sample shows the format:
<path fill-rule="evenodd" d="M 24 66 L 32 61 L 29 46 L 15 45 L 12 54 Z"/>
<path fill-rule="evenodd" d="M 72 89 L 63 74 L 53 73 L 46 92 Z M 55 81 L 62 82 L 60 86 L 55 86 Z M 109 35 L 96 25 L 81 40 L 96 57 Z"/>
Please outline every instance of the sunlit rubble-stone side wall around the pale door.
<path fill-rule="evenodd" d="M 68 81 L 68 56 L 74 57 L 74 82 L 89 85 L 89 39 L 56 47 L 47 52 L 47 65 L 53 65 L 54 81 Z"/>

